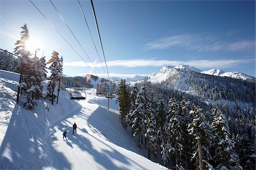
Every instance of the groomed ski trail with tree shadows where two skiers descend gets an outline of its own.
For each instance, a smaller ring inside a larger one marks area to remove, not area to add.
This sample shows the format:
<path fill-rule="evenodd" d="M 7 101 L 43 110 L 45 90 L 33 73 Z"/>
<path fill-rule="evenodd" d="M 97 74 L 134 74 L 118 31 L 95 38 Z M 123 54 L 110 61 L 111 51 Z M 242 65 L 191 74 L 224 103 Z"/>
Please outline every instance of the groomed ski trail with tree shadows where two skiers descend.
<path fill-rule="evenodd" d="M 51 165 L 45 169 L 166 169 L 133 152 L 139 150 L 127 133 L 123 133 L 118 114 L 92 104 L 89 100 L 100 101 L 94 97 L 97 96 L 87 95 L 86 100 L 77 101 L 82 107 L 80 112 L 56 121 L 49 129 L 53 152 L 61 156 L 53 156 Z M 74 122 L 75 135 L 72 134 Z M 62 138 L 63 129 L 68 130 L 67 140 Z"/>

